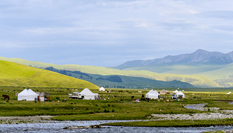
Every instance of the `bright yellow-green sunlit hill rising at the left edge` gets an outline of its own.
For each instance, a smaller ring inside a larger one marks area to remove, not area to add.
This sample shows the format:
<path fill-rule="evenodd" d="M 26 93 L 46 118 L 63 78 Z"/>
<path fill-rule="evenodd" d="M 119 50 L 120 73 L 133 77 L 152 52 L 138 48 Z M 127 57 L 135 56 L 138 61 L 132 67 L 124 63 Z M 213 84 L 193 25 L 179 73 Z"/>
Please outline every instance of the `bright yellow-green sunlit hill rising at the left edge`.
<path fill-rule="evenodd" d="M 98 86 L 55 72 L 0 60 L 1 86 L 92 88 Z"/>

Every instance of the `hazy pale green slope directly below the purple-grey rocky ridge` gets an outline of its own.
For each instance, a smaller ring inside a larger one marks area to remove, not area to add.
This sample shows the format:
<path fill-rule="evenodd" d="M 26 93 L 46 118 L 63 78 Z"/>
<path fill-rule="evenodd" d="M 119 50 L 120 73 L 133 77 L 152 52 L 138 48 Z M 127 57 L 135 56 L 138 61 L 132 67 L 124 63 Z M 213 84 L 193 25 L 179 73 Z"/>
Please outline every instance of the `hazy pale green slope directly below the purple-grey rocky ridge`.
<path fill-rule="evenodd" d="M 163 65 L 133 67 L 124 70 L 148 70 L 158 73 L 202 75 L 206 76 L 220 86 L 233 87 L 233 64 L 227 65 Z"/>

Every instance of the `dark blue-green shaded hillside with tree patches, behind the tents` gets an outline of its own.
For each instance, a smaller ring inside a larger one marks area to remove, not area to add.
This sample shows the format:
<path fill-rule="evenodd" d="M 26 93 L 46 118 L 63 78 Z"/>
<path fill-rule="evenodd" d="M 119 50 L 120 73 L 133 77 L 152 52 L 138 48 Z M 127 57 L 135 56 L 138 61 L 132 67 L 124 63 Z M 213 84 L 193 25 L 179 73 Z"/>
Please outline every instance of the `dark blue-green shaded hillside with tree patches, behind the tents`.
<path fill-rule="evenodd" d="M 181 81 L 158 81 L 142 77 L 130 77 L 121 75 L 98 75 L 88 74 L 80 71 L 69 71 L 47 67 L 46 70 L 54 71 L 64 75 L 83 79 L 105 88 L 195 88 L 193 85 Z"/>

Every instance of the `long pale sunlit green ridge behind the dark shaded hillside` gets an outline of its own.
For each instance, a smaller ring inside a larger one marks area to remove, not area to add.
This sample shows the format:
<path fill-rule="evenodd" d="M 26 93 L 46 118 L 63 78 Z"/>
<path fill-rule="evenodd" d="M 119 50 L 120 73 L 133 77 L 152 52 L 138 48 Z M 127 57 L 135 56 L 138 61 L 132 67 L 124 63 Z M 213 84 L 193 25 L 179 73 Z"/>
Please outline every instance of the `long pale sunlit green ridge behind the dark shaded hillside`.
<path fill-rule="evenodd" d="M 41 62 L 32 62 L 23 59 L 16 59 L 16 58 L 4 58 L 1 57 L 0 59 L 9 60 L 25 65 L 31 65 L 34 67 L 54 67 L 56 69 L 64 69 L 70 71 L 81 71 L 84 73 L 89 74 L 98 74 L 98 75 L 122 75 L 122 76 L 131 76 L 131 77 L 143 77 L 149 78 L 153 80 L 161 80 L 161 81 L 172 81 L 172 80 L 179 80 L 182 82 L 190 83 L 197 87 L 219 87 L 217 83 L 212 81 L 206 76 L 201 75 L 178 75 L 178 74 L 159 74 L 151 71 L 146 70 L 119 70 L 113 68 L 106 68 L 106 67 L 97 67 L 97 66 L 80 66 L 80 65 L 55 65 L 55 64 L 46 64 Z"/>

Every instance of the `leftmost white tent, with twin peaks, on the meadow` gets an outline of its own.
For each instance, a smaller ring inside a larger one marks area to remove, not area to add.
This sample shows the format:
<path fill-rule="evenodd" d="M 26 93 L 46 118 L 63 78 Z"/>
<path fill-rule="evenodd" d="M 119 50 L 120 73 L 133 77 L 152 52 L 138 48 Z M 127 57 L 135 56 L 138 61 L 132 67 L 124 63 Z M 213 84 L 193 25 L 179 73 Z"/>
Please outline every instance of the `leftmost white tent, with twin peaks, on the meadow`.
<path fill-rule="evenodd" d="M 36 94 L 33 90 L 31 89 L 24 89 L 22 92 L 18 94 L 18 101 L 35 101 L 35 99 L 38 98 L 38 94 Z"/>

